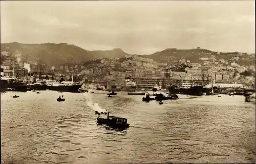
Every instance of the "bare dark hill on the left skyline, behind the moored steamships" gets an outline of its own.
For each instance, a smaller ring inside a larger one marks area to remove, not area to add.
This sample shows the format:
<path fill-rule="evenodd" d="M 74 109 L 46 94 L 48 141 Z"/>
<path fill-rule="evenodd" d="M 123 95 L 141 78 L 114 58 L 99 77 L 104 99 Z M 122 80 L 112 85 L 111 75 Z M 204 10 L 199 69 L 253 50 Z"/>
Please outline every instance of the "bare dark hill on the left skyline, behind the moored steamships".
<path fill-rule="evenodd" d="M 122 49 L 89 51 L 67 43 L 1 43 L 1 51 L 20 53 L 24 61 L 35 61 L 47 65 L 61 65 L 64 63 L 90 61 L 97 58 L 123 58 L 127 53 Z"/>

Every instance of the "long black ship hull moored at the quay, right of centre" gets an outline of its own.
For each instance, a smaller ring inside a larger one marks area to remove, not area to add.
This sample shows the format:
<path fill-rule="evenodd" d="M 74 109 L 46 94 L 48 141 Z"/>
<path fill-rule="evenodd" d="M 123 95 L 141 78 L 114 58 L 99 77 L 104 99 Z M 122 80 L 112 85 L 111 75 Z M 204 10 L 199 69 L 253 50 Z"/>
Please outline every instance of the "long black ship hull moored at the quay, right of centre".
<path fill-rule="evenodd" d="M 190 87 L 190 88 L 175 88 L 175 87 L 169 87 L 168 88 L 169 93 L 171 94 L 183 94 L 183 95 L 193 95 L 193 96 L 202 96 L 203 95 L 203 87 L 197 86 L 197 87 Z"/>

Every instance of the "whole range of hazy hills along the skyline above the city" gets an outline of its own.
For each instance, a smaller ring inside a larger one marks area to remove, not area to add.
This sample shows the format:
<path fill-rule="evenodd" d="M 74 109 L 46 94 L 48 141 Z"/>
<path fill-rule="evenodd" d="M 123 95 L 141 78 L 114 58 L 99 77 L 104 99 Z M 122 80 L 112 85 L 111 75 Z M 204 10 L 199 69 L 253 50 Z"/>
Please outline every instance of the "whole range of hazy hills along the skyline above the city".
<path fill-rule="evenodd" d="M 62 65 L 71 62 L 87 62 L 98 58 L 124 58 L 129 55 L 120 48 L 112 50 L 86 50 L 78 46 L 67 43 L 42 43 L 42 44 L 23 44 L 23 43 L 1 43 L 1 51 L 22 54 L 24 61 L 39 61 L 49 66 Z M 212 58 L 217 61 L 225 59 L 231 61 L 233 57 L 240 57 L 240 64 L 254 65 L 255 54 L 249 55 L 240 52 L 217 52 L 208 49 L 177 49 L 167 48 L 150 55 L 138 55 L 144 58 L 153 59 L 160 63 L 175 62 L 181 58 L 189 60 L 192 63 L 203 63 L 200 58 Z M 39 59 L 39 60 L 38 60 Z"/>

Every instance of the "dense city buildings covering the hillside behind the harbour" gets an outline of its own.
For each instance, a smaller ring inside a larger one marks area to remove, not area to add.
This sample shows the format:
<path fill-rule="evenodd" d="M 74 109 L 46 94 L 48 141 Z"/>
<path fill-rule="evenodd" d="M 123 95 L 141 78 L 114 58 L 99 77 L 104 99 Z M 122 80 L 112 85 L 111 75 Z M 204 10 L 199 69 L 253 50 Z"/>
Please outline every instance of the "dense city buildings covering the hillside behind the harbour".
<path fill-rule="evenodd" d="M 198 47 L 200 48 L 200 47 Z M 5 56 L 1 68 L 4 75 L 12 74 L 12 54 L 9 52 L 1 52 L 1 56 Z M 204 57 L 206 56 L 207 57 Z M 209 58 L 210 56 L 210 58 Z M 97 83 L 105 83 L 104 81 L 116 81 L 120 86 L 124 83 L 125 77 L 130 77 L 137 81 L 138 87 L 152 88 L 161 82 L 168 85 L 172 80 L 210 80 L 215 83 L 234 83 L 241 81 L 240 73 L 250 69 L 255 72 L 255 66 L 239 65 L 237 57 L 231 60 L 217 60 L 214 55 L 209 53 L 200 53 L 200 63 L 193 63 L 186 59 L 178 59 L 174 61 L 166 61 L 159 63 L 153 59 L 148 59 L 136 55 L 127 55 L 125 58 L 101 58 L 89 62 L 67 63 L 59 66 L 48 66 L 44 63 L 36 61 L 25 61 L 14 59 L 14 68 L 17 70 L 19 77 L 26 77 L 28 73 L 33 75 L 47 75 L 55 78 L 65 77 L 71 78 L 72 66 L 73 74 L 79 79 L 89 80 Z M 30 65 L 30 72 L 24 65 Z M 143 80 L 142 80 L 143 79 Z M 245 78 L 246 81 L 252 81 L 253 78 Z M 102 82 L 103 81 L 103 82 Z M 142 85 L 143 84 L 143 85 Z"/>

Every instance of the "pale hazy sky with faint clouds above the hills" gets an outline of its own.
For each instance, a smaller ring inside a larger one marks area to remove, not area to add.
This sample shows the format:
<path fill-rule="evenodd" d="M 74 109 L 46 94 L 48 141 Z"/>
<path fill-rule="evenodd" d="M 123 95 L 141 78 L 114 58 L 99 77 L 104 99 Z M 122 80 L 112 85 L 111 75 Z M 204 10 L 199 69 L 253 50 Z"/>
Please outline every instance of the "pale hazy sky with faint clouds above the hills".
<path fill-rule="evenodd" d="M 254 1 L 1 1 L 1 43 L 255 52 Z"/>

